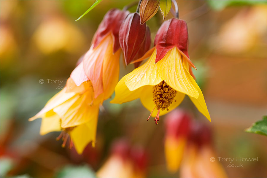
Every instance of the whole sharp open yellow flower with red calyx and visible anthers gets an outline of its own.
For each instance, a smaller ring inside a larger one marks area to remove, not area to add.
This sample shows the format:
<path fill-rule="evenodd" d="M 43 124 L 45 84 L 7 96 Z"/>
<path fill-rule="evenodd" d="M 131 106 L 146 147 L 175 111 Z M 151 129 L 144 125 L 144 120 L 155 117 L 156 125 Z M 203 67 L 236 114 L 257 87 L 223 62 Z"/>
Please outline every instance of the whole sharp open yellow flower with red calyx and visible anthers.
<path fill-rule="evenodd" d="M 154 45 L 134 62 L 149 59 L 118 82 L 111 103 L 122 104 L 140 98 L 151 112 L 150 116 L 156 117 L 157 124 L 160 115 L 176 108 L 188 95 L 199 112 L 210 121 L 203 94 L 191 71 L 191 67 L 196 67 L 187 51 L 186 22 L 176 18 L 165 21 L 155 36 Z"/>

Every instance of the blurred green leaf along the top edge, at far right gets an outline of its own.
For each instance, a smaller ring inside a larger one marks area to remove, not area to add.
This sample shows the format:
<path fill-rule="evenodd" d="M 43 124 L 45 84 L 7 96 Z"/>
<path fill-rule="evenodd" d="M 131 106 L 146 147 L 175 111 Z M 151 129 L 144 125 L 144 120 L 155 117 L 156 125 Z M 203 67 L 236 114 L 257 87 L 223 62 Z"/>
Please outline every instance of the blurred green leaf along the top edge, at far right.
<path fill-rule="evenodd" d="M 266 4 L 266 1 L 261 1 L 261 0 L 255 0 L 255 1 L 207 1 L 209 6 L 214 9 L 214 10 L 222 10 L 225 7 L 229 6 L 252 6 L 252 5 L 257 5 L 257 4 Z"/>

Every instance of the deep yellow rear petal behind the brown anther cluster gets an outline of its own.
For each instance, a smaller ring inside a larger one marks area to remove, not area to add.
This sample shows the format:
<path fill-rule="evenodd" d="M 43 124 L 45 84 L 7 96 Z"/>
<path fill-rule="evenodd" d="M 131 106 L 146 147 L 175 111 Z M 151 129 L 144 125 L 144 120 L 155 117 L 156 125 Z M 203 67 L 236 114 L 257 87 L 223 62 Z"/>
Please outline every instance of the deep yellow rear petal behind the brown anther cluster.
<path fill-rule="evenodd" d="M 169 111 L 167 111 L 167 109 L 165 109 L 164 111 L 160 110 L 160 116 L 165 115 L 168 112 L 175 109 L 177 106 L 179 106 L 179 104 L 181 104 L 181 102 L 183 101 L 184 98 L 185 98 L 184 93 L 177 92 L 175 97 L 174 97 L 174 99 L 176 101 L 173 101 L 173 103 L 169 106 Z M 140 100 L 141 100 L 143 106 L 145 108 L 147 108 L 147 110 L 152 112 L 152 110 L 155 108 L 155 104 L 153 101 L 153 86 L 144 86 L 144 89 L 142 91 L 142 95 L 140 95 Z M 156 109 L 154 109 L 151 116 L 156 117 L 157 112 L 158 111 Z"/>

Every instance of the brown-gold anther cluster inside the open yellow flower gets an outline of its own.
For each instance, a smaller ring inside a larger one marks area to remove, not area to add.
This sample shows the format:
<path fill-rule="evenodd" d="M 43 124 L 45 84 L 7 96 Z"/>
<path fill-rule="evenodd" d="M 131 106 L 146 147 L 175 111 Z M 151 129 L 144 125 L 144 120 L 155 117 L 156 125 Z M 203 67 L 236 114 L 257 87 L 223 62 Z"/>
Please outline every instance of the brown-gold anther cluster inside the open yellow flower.
<path fill-rule="evenodd" d="M 167 109 L 174 100 L 177 91 L 167 85 L 164 81 L 158 85 L 153 86 L 153 101 L 156 105 L 157 110 Z"/>

